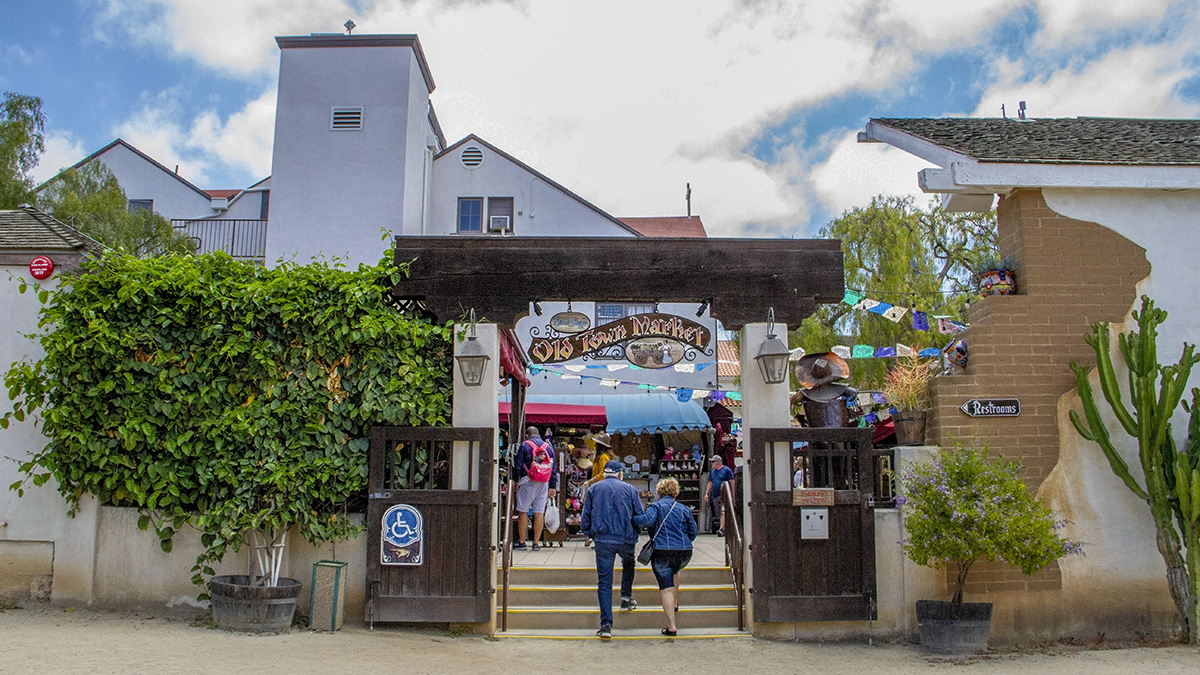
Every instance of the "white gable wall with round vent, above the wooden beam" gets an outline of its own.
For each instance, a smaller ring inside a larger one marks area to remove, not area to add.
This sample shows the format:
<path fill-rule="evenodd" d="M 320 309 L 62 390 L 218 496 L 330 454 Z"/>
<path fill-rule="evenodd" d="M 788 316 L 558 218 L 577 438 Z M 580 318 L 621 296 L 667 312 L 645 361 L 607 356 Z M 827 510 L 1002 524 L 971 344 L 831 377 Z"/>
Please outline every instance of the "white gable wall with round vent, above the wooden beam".
<path fill-rule="evenodd" d="M 462 150 L 469 147 L 484 153 L 484 162 L 473 169 L 460 162 Z M 458 197 L 512 197 L 512 233 L 517 237 L 634 237 L 520 165 L 473 141 L 433 162 L 428 234 L 457 232 Z M 484 228 L 487 228 L 486 220 Z M 546 264 L 553 263 L 547 261 Z"/>

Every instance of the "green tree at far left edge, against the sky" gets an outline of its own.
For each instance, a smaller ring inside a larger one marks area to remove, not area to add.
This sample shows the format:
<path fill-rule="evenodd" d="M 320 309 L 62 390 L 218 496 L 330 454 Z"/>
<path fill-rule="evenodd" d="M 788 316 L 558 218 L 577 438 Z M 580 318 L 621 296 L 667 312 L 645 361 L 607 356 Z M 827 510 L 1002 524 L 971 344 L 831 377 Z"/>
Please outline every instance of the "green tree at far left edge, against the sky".
<path fill-rule="evenodd" d="M 5 91 L 0 104 L 0 209 L 34 201 L 29 172 L 46 149 L 44 127 L 41 98 Z"/>

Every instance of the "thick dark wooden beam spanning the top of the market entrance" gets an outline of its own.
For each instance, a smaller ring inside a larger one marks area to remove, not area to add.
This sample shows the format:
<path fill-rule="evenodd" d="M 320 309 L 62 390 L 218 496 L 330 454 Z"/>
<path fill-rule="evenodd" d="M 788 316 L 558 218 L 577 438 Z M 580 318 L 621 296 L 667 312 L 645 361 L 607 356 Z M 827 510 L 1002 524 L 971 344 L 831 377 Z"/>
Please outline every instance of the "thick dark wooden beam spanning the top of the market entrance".
<path fill-rule="evenodd" d="M 767 321 L 799 325 L 817 304 L 840 301 L 841 244 L 832 239 L 614 237 L 397 237 L 392 289 L 437 321 L 474 309 L 512 327 L 534 300 L 696 303 L 728 329 Z"/>

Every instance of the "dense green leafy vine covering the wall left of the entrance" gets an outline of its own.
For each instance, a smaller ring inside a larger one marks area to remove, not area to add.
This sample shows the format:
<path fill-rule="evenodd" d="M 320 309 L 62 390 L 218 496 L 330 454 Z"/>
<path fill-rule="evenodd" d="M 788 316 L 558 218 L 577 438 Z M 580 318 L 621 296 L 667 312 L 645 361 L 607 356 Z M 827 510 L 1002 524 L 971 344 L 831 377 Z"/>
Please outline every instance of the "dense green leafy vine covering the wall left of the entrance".
<path fill-rule="evenodd" d="M 85 262 L 40 293 L 44 356 L 5 378 L 14 404 L 0 426 L 37 414 L 49 440 L 12 488 L 53 477 L 72 510 L 89 494 L 136 508 L 166 551 L 196 527 L 198 584 L 259 532 L 353 536 L 371 426 L 450 419 L 450 328 L 394 306 L 403 273 L 390 258 L 355 270 L 226 253 Z"/>

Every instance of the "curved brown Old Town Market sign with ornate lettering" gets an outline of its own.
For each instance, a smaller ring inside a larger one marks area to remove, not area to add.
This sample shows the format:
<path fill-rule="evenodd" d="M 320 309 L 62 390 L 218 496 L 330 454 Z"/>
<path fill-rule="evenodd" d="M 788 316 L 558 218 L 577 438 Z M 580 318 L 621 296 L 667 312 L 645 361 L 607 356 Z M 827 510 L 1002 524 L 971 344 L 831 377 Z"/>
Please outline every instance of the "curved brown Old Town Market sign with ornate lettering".
<path fill-rule="evenodd" d="M 682 345 L 685 351 L 703 351 L 712 340 L 712 331 L 695 321 L 682 316 L 656 312 L 642 313 L 598 325 L 592 330 L 584 330 L 575 335 L 534 338 L 529 345 L 528 353 L 529 359 L 535 364 L 563 363 L 602 352 L 614 345 L 620 345 L 630 340 L 642 340 L 644 338 L 668 339 Z M 660 342 L 662 342 L 660 345 L 661 353 L 665 341 Z M 670 346 L 667 350 L 671 351 L 672 356 L 665 358 L 671 358 L 672 360 L 679 358 L 676 356 L 677 350 L 672 350 Z M 637 365 L 642 365 L 632 358 L 630 360 Z M 650 358 L 650 363 L 653 363 L 653 357 Z M 644 368 L 666 368 L 667 365 L 672 364 L 655 364 Z"/>

